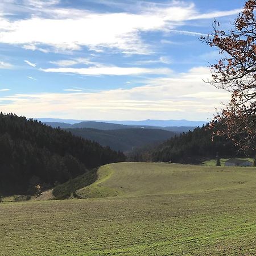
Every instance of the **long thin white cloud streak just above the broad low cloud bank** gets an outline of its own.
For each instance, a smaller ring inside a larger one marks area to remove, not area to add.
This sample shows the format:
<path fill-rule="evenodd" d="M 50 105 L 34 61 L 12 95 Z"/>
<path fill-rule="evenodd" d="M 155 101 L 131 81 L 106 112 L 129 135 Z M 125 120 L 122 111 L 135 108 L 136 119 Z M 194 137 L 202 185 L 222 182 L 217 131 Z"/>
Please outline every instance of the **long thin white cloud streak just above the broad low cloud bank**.
<path fill-rule="evenodd" d="M 88 76 L 127 76 L 142 74 L 167 75 L 172 71 L 168 68 L 123 68 L 123 67 L 89 67 L 89 68 L 47 68 L 40 69 L 44 72 L 73 73 Z"/>

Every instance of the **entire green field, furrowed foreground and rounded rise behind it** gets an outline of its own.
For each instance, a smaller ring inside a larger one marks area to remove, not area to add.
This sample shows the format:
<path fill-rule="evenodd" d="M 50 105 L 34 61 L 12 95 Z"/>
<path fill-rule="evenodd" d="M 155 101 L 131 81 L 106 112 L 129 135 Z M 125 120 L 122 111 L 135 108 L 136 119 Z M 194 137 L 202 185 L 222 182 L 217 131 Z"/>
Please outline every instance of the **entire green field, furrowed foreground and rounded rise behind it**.
<path fill-rule="evenodd" d="M 1 203 L 0 255 L 256 255 L 254 167 L 110 164 L 77 193 Z"/>

